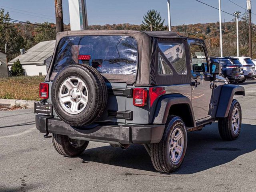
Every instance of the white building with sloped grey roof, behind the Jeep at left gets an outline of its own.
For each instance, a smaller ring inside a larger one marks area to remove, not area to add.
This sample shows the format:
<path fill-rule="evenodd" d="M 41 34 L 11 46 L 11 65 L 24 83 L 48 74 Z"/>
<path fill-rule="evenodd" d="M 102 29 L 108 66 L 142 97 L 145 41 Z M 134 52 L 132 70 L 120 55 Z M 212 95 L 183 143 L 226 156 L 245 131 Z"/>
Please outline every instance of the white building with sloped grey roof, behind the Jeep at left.
<path fill-rule="evenodd" d="M 8 69 L 11 69 L 14 62 L 20 60 L 25 75 L 45 76 L 47 72 L 46 68 L 48 68 L 52 60 L 54 47 L 55 40 L 40 42 L 29 50 L 21 52 L 18 57 L 8 62 Z"/>

